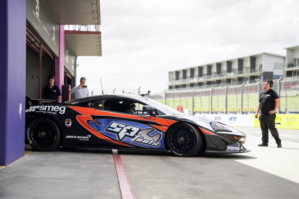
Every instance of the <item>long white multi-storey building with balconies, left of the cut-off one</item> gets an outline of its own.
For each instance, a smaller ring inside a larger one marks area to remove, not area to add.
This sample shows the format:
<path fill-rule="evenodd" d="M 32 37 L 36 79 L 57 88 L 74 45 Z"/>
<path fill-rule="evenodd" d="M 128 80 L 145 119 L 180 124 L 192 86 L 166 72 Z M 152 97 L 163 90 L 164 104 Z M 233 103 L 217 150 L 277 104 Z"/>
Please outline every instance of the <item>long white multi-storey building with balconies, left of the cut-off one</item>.
<path fill-rule="evenodd" d="M 299 46 L 297 47 L 299 58 Z M 297 59 L 298 60 L 298 59 Z M 289 63 L 289 62 L 288 62 Z M 298 61 L 297 71 L 299 70 Z M 260 53 L 169 72 L 169 90 L 201 89 L 259 82 L 283 76 L 286 57 Z M 298 74 L 298 73 L 297 73 Z"/>

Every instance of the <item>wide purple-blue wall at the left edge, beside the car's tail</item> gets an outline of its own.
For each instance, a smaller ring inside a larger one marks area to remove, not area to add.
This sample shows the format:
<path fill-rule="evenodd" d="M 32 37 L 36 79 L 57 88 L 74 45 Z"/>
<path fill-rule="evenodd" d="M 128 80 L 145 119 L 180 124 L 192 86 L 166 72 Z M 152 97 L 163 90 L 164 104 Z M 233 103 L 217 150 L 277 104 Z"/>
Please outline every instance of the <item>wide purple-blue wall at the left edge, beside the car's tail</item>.
<path fill-rule="evenodd" d="M 24 156 L 26 0 L 0 2 L 0 165 Z"/>

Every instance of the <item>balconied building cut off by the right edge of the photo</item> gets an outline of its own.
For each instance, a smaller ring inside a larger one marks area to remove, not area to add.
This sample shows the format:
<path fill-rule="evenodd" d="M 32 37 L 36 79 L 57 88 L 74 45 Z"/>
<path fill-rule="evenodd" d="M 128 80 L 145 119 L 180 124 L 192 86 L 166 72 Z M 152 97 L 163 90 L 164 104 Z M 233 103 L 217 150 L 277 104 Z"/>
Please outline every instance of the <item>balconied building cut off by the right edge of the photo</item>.
<path fill-rule="evenodd" d="M 299 46 L 286 49 L 286 64 L 283 69 L 284 77 L 299 78 Z"/>

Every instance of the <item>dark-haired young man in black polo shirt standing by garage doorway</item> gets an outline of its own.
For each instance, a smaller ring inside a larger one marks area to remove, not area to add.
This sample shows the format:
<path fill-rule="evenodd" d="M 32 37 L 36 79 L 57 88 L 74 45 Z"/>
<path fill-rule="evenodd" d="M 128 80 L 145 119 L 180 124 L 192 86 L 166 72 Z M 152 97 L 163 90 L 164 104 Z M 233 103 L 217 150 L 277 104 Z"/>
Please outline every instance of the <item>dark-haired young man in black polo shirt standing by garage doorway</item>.
<path fill-rule="evenodd" d="M 49 84 L 44 87 L 44 93 L 42 94 L 43 98 L 56 101 L 60 100 L 61 93 L 59 87 L 54 84 L 55 77 L 53 75 L 50 75 L 48 79 Z"/>

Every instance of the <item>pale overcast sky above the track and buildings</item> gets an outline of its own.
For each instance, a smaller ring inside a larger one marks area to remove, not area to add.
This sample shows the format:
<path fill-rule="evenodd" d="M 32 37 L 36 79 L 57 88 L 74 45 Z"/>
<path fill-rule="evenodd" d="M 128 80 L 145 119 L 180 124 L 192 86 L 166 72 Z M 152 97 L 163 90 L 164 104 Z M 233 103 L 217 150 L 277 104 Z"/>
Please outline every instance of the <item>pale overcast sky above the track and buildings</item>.
<path fill-rule="evenodd" d="M 89 91 L 163 92 L 168 72 L 299 45 L 298 0 L 100 0 L 102 56 L 78 57 Z"/>

